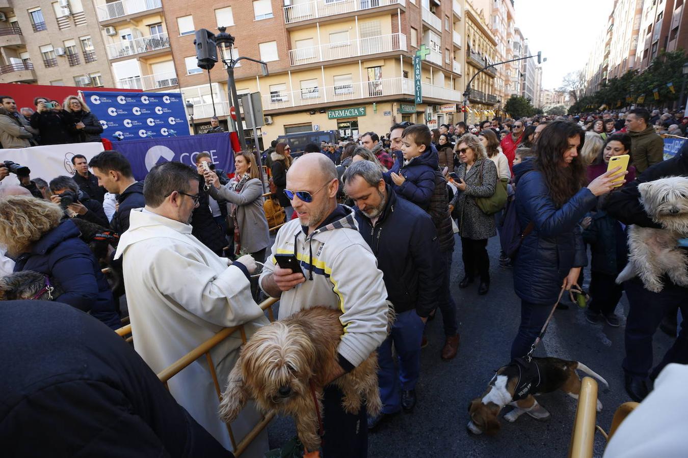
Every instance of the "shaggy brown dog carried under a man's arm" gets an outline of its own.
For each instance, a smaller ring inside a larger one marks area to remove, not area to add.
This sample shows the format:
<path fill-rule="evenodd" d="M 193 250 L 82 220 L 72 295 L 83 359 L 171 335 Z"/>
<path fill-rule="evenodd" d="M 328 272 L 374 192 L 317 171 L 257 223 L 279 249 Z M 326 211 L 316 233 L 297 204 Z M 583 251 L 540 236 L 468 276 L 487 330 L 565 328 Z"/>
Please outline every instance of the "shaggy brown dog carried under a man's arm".
<path fill-rule="evenodd" d="M 340 316 L 338 310 L 314 307 L 253 334 L 229 374 L 219 406 L 222 419 L 234 420 L 246 400 L 253 398 L 264 413 L 292 415 L 305 449 L 318 450 L 317 412 L 323 414 L 323 387 L 329 381 L 325 377 L 338 365 L 337 346 L 343 334 Z M 332 382 L 344 393 L 345 411 L 357 413 L 363 395 L 369 415 L 380 413 L 377 371 L 378 355 L 373 352 L 356 369 Z"/>

